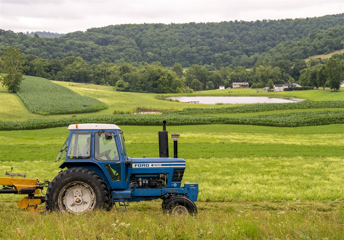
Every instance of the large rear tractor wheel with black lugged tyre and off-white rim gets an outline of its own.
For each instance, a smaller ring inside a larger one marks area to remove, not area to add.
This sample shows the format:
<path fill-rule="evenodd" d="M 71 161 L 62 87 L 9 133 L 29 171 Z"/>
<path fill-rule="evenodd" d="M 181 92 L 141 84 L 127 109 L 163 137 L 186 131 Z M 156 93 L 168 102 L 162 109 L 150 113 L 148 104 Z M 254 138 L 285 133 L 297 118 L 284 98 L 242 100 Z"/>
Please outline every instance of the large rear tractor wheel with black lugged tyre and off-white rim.
<path fill-rule="evenodd" d="M 104 180 L 87 168 L 70 168 L 50 182 L 45 195 L 47 211 L 84 213 L 110 208 L 110 192 Z"/>

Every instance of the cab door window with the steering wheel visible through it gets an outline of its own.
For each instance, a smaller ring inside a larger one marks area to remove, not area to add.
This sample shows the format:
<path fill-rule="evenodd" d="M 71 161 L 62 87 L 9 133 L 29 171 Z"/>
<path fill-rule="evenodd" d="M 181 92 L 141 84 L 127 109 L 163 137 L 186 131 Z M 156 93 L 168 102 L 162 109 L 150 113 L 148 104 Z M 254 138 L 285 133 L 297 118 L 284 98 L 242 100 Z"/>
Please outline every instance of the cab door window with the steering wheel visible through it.
<path fill-rule="evenodd" d="M 113 133 L 112 133 L 113 134 Z M 111 140 L 105 139 L 105 133 L 95 133 L 95 148 L 94 148 L 94 158 L 98 161 L 118 161 L 119 155 L 116 145 L 115 137 L 112 137 Z"/>

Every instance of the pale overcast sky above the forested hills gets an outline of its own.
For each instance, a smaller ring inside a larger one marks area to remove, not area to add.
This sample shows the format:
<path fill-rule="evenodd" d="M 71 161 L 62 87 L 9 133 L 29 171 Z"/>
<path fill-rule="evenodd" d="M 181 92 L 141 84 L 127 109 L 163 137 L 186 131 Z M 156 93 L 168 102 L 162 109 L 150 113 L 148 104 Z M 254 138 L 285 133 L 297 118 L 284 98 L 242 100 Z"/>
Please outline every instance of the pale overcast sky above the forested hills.
<path fill-rule="evenodd" d="M 344 12 L 327 1 L 61 1 L 0 0 L 0 28 L 14 32 L 86 31 L 123 23 L 255 21 Z"/>

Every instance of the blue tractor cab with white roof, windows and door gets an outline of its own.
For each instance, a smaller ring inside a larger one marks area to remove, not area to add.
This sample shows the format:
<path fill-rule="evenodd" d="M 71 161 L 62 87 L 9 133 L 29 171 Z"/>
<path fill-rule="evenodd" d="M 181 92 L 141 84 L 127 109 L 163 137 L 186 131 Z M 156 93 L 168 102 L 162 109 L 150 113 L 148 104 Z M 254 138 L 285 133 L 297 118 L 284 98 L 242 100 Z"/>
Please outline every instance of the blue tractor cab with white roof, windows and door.
<path fill-rule="evenodd" d="M 72 124 L 56 161 L 64 155 L 60 168 L 87 165 L 113 189 L 123 189 L 124 172 L 127 171 L 127 149 L 122 130 L 115 124 Z M 65 154 L 66 153 L 66 154 Z M 106 170 L 106 172 L 104 172 Z"/>

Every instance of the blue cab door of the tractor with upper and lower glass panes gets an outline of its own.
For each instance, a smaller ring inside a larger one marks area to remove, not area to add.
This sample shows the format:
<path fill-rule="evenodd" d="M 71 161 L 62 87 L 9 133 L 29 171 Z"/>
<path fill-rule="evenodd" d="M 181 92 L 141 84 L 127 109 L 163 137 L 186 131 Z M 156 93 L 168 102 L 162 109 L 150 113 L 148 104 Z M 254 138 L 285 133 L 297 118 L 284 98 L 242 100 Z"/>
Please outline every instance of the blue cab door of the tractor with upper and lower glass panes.
<path fill-rule="evenodd" d="M 105 139 L 105 132 L 111 132 L 111 140 Z M 93 130 L 94 147 L 92 160 L 97 162 L 108 176 L 112 189 L 124 189 L 124 168 L 120 142 L 116 130 L 100 132 Z"/>

